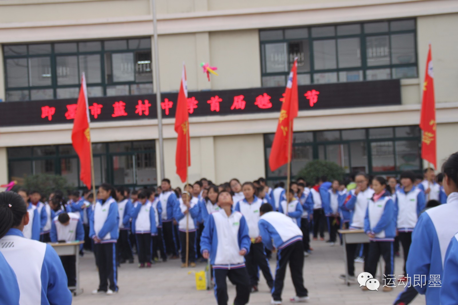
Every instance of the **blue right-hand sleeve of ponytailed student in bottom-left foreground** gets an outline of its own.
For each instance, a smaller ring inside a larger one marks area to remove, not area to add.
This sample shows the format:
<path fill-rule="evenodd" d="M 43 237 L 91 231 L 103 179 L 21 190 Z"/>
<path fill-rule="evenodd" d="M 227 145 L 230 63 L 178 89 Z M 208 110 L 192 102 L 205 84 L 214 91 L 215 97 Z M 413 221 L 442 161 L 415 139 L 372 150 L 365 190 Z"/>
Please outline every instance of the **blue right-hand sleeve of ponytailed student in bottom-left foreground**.
<path fill-rule="evenodd" d="M 67 276 L 59 256 L 51 245 L 46 245 L 41 267 L 41 283 L 47 283 L 46 295 L 50 305 L 71 305 L 71 292 L 67 288 Z"/>

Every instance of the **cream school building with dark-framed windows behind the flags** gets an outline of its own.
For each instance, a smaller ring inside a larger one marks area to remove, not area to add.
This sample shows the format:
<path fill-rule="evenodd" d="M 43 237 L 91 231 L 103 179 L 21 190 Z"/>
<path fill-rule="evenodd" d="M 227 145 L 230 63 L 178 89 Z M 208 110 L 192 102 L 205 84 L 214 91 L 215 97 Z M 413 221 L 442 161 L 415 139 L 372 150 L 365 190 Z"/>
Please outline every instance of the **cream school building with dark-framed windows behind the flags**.
<path fill-rule="evenodd" d="M 458 151 L 456 0 L 157 0 L 166 177 L 186 64 L 189 180 L 284 180 L 268 157 L 298 57 L 292 174 L 313 159 L 347 173 L 420 171 L 432 45 L 438 165 Z M 77 186 L 72 119 L 85 72 L 97 184 L 159 179 L 150 0 L 0 1 L 0 184 L 38 173 Z M 201 63 L 217 67 L 210 82 Z"/>

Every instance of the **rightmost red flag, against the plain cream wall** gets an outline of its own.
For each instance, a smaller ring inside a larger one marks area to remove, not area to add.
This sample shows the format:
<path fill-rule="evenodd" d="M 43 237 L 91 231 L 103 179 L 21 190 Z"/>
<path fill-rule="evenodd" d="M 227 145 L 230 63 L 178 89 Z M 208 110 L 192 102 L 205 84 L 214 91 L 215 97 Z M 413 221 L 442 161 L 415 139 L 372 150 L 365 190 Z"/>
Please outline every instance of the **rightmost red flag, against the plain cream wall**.
<path fill-rule="evenodd" d="M 436 166 L 436 102 L 434 100 L 434 75 L 432 70 L 431 44 L 426 60 L 423 98 L 421 100 L 420 128 L 423 130 L 421 158 Z"/>

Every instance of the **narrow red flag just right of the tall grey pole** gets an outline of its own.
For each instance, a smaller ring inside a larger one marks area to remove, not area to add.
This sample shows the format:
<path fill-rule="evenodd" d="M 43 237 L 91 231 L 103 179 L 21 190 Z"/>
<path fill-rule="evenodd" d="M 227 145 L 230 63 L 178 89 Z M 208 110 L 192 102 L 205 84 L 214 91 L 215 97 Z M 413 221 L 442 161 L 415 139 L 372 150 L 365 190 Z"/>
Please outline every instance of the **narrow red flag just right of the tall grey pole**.
<path fill-rule="evenodd" d="M 188 87 L 186 85 L 186 67 L 184 64 L 180 92 L 176 102 L 175 131 L 178 134 L 175 155 L 176 173 L 180 176 L 181 182 L 185 182 L 188 175 L 188 166 L 191 166 L 191 154 L 189 149 Z"/>

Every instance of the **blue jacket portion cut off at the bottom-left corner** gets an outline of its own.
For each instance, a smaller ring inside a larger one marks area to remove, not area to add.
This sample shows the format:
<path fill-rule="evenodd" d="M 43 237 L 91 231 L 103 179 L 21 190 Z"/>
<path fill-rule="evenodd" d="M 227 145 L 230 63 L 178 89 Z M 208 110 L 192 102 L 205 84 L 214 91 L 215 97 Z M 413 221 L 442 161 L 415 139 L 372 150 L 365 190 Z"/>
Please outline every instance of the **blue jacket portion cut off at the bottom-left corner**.
<path fill-rule="evenodd" d="M 0 294 L 0 304 L 19 305 L 19 285 L 17 284 L 16 274 L 14 274 L 13 269 L 8 265 L 1 252 L 0 270 L 0 287 L 3 291 Z"/>

